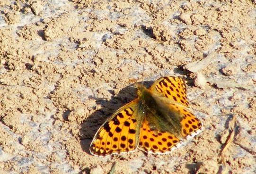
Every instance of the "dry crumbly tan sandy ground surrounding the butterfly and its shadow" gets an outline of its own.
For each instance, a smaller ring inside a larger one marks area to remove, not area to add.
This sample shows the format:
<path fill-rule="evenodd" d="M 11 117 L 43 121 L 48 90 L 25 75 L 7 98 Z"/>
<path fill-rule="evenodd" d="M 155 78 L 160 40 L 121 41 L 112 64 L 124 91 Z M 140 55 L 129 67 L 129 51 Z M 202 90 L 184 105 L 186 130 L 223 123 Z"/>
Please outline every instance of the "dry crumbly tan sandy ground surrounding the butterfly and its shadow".
<path fill-rule="evenodd" d="M 0 0 L 0 11 L 1 174 L 107 174 L 114 162 L 115 174 L 256 173 L 254 0 Z M 163 75 L 186 80 L 204 131 L 168 155 L 92 156 L 97 128 L 136 97 L 129 85 Z"/>

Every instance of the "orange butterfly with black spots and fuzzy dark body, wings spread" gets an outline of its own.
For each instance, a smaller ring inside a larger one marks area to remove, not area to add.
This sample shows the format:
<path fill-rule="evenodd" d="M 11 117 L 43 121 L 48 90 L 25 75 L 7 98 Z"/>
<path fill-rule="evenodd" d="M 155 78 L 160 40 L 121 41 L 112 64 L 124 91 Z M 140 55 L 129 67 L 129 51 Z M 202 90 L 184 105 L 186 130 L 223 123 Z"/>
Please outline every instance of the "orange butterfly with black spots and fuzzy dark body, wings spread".
<path fill-rule="evenodd" d="M 91 154 L 103 157 L 138 147 L 164 154 L 202 131 L 203 124 L 189 110 L 182 78 L 161 77 L 149 89 L 137 84 L 137 95 L 100 126 L 90 145 Z"/>

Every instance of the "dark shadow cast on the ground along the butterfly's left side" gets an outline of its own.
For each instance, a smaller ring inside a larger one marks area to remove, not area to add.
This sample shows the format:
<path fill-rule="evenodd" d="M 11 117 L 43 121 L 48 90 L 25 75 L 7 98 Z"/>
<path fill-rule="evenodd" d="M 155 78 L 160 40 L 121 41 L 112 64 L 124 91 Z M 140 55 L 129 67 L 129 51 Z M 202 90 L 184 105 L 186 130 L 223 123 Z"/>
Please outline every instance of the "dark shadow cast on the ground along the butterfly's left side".
<path fill-rule="evenodd" d="M 149 87 L 154 81 L 144 81 L 143 85 Z M 141 83 L 141 82 L 139 82 Z M 135 86 L 132 84 L 132 86 Z M 136 88 L 127 86 L 123 88 L 115 97 L 114 91 L 109 91 L 112 94 L 110 100 L 91 96 L 90 99 L 95 99 L 97 105 L 101 108 L 88 116 L 82 124 L 80 124 L 79 135 L 80 145 L 84 152 L 90 154 L 90 143 L 96 134 L 98 128 L 111 116 L 118 108 L 124 106 L 128 102 L 137 98 Z"/>

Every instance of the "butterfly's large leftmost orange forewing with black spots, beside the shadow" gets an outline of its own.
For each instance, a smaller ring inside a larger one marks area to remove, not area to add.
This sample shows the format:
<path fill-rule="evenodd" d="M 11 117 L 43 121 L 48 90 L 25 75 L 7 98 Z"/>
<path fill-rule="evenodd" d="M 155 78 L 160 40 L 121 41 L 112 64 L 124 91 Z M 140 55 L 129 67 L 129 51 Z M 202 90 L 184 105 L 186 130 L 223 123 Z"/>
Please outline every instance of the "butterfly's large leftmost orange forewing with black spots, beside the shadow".
<path fill-rule="evenodd" d="M 136 149 L 141 122 L 137 110 L 138 99 L 135 99 L 110 116 L 94 136 L 90 152 L 106 156 Z"/>

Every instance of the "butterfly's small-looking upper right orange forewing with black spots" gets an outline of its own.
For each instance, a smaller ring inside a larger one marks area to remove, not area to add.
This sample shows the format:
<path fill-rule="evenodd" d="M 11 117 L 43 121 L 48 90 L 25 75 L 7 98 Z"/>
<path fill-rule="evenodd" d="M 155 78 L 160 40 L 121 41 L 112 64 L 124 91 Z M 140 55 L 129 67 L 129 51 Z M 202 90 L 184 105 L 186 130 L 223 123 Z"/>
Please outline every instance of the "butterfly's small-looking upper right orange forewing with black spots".
<path fill-rule="evenodd" d="M 186 86 L 182 78 L 173 76 L 161 77 L 152 84 L 149 90 L 152 93 L 165 96 L 172 101 L 189 107 L 186 98 Z"/>

